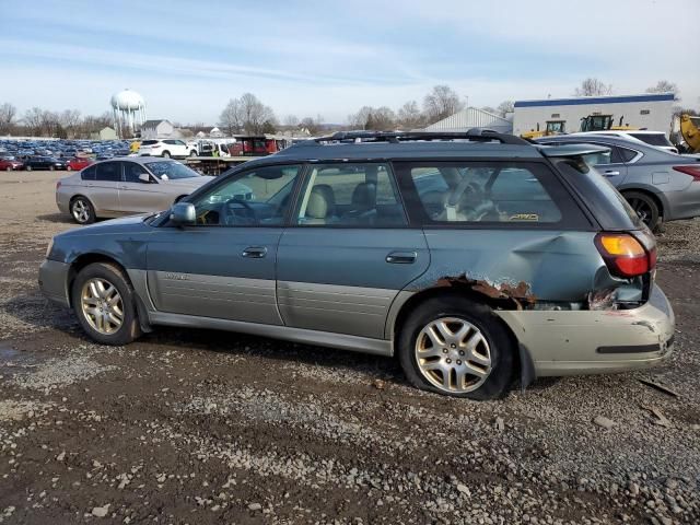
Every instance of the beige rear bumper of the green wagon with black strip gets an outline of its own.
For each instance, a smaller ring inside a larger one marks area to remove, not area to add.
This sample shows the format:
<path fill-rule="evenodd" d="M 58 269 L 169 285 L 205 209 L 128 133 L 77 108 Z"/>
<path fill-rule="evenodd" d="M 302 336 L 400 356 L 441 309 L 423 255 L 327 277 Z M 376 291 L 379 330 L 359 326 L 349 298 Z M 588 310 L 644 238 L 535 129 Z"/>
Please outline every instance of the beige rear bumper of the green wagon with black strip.
<path fill-rule="evenodd" d="M 674 313 L 656 285 L 634 310 L 497 313 L 529 352 L 537 376 L 645 369 L 673 350 Z"/>

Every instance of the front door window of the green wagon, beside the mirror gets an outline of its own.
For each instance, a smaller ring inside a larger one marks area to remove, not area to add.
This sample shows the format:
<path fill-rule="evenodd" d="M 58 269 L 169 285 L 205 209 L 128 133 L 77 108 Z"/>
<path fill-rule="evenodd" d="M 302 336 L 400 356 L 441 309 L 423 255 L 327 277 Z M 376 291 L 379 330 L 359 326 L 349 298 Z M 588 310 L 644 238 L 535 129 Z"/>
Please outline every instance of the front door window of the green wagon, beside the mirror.
<path fill-rule="evenodd" d="M 266 166 L 238 173 L 200 196 L 196 223 L 220 226 L 279 226 L 292 205 L 301 165 Z"/>

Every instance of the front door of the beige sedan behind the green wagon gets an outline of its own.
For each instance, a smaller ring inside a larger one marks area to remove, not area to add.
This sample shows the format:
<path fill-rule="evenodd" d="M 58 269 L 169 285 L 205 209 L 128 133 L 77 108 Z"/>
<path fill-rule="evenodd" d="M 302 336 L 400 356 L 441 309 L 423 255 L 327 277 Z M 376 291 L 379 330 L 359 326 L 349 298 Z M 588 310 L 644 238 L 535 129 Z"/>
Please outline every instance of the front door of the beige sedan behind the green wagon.
<path fill-rule="evenodd" d="M 161 184 L 143 165 L 122 161 L 122 180 L 119 185 L 119 209 L 125 213 L 160 211 L 173 203 L 164 184 Z M 149 182 L 139 176 L 145 175 Z"/>

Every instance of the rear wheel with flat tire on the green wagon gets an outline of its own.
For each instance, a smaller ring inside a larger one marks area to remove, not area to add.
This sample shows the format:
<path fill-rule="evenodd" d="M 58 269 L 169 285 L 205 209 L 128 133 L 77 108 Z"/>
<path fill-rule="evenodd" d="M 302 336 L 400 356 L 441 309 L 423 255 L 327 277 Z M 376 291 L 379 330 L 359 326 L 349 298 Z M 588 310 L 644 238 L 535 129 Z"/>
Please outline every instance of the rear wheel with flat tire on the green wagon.
<path fill-rule="evenodd" d="M 513 383 L 515 349 L 506 327 L 487 305 L 463 296 L 421 303 L 404 323 L 397 351 L 406 377 L 423 390 L 487 400 L 503 397 Z"/>

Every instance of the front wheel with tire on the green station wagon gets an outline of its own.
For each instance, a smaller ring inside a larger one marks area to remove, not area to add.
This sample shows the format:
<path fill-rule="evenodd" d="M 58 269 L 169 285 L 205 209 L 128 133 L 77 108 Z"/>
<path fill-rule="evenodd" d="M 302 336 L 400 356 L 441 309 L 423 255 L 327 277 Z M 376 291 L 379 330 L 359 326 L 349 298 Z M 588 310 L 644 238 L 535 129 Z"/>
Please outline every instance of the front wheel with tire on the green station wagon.
<path fill-rule="evenodd" d="M 71 288 L 78 322 L 101 345 L 128 345 L 141 336 L 136 298 L 124 272 L 108 262 L 86 266 Z"/>

